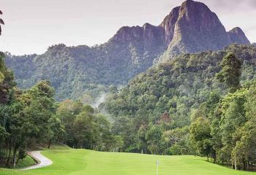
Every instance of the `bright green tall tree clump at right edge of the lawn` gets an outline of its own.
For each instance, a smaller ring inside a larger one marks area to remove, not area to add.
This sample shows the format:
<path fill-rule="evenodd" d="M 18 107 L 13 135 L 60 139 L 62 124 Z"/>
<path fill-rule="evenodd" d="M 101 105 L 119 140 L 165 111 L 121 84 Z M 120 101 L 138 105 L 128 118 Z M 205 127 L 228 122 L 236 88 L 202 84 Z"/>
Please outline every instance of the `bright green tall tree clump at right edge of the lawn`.
<path fill-rule="evenodd" d="M 211 114 L 211 140 L 218 163 L 248 170 L 255 160 L 254 89 L 227 93 Z"/>

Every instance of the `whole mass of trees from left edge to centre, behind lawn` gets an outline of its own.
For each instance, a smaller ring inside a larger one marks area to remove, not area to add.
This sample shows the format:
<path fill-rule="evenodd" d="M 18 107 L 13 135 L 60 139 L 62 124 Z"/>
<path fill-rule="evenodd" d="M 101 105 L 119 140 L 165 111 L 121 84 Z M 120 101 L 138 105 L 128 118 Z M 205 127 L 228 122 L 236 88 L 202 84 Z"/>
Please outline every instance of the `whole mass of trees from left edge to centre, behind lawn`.
<path fill-rule="evenodd" d="M 52 143 L 115 152 L 123 148 L 122 137 L 113 135 L 107 118 L 91 106 L 70 100 L 56 104 L 48 81 L 19 90 L 1 57 L 0 63 L 1 164 L 26 164 L 28 147 L 48 144 L 50 148 Z"/>

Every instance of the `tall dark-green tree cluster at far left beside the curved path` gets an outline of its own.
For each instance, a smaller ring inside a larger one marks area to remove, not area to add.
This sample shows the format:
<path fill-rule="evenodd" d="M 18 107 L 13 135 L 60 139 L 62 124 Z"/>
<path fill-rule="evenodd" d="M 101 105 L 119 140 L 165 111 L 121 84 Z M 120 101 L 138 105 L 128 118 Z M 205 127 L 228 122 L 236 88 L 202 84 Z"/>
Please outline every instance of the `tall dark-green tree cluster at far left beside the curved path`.
<path fill-rule="evenodd" d="M 26 158 L 27 147 L 57 141 L 61 125 L 56 124 L 50 82 L 38 82 L 28 90 L 19 90 L 3 59 L 0 52 L 0 163 L 15 166 Z"/>

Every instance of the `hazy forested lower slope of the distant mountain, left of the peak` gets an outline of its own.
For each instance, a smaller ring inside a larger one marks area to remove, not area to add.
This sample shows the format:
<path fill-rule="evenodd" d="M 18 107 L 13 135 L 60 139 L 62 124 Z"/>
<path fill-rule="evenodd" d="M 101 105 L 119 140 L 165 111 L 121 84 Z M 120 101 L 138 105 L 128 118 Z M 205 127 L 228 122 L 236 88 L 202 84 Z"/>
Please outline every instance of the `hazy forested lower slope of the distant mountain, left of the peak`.
<path fill-rule="evenodd" d="M 30 88 L 47 79 L 56 89 L 58 101 L 77 100 L 83 94 L 94 101 L 99 97 L 97 91 L 104 91 L 110 85 L 127 84 L 129 79 L 152 66 L 165 50 L 160 44 L 163 43 L 145 45 L 138 39 L 129 42 L 111 39 L 94 47 L 57 44 L 42 55 L 7 54 L 7 65 L 15 72 L 19 88 Z"/>

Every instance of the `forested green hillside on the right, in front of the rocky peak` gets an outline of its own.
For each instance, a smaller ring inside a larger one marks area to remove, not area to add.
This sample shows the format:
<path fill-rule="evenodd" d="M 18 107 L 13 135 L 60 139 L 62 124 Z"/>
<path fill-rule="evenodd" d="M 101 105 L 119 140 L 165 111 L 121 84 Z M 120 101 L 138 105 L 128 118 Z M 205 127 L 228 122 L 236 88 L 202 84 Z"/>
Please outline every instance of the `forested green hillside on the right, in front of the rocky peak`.
<path fill-rule="evenodd" d="M 179 55 L 139 74 L 120 91 L 112 88 L 105 107 L 115 119 L 113 132 L 124 138 L 124 149 L 194 154 L 189 125 L 203 114 L 199 109 L 214 110 L 229 92 L 217 79 L 229 52 L 242 63 L 241 84 L 255 80 L 256 47 L 234 44 L 216 52 Z"/>

